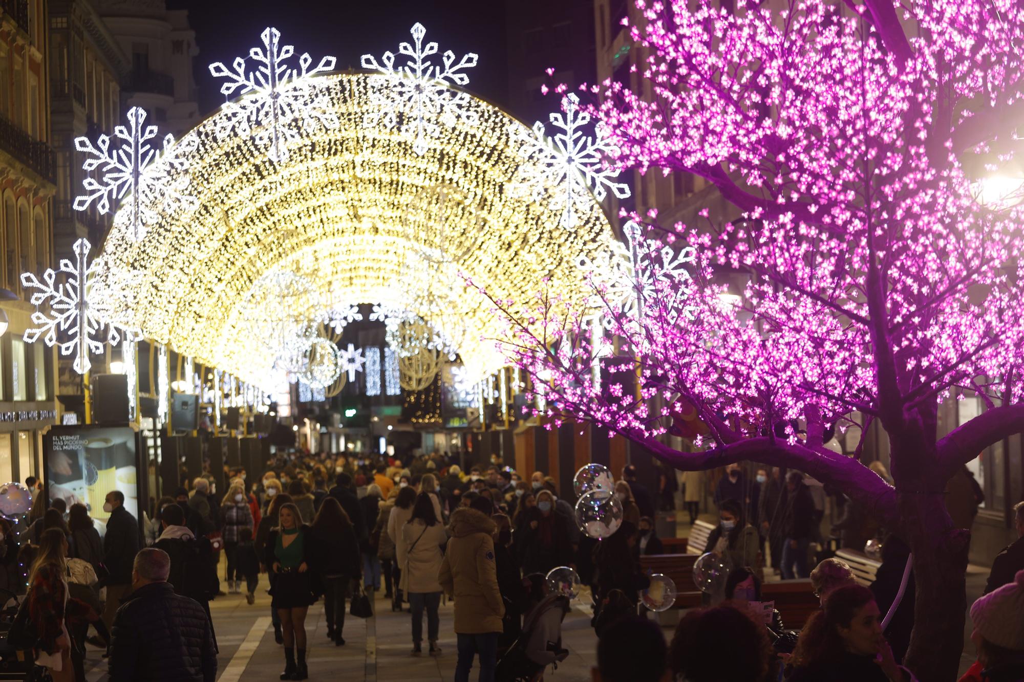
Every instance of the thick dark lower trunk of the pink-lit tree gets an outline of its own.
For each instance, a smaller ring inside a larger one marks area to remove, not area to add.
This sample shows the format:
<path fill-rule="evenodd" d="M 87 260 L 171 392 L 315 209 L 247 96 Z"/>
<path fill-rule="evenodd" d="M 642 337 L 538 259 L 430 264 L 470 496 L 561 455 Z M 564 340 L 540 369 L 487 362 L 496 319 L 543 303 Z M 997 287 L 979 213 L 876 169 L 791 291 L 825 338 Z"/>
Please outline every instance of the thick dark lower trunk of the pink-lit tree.
<path fill-rule="evenodd" d="M 905 492 L 899 492 L 901 487 Z M 953 527 L 944 487 L 945 481 L 928 478 L 909 485 L 897 483 L 916 584 L 913 634 L 904 665 L 927 682 L 955 682 L 964 650 L 965 576 L 971 534 Z"/>

